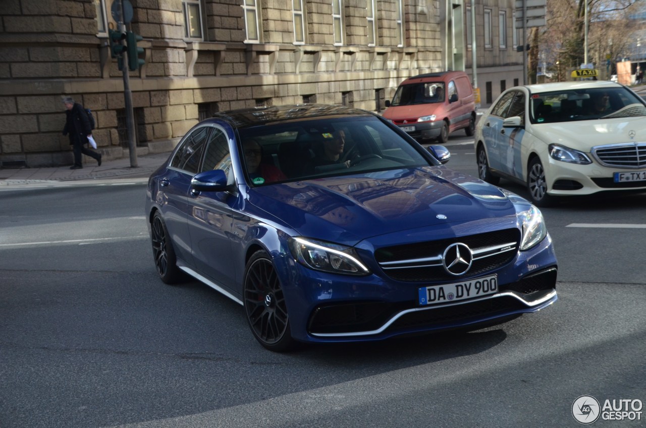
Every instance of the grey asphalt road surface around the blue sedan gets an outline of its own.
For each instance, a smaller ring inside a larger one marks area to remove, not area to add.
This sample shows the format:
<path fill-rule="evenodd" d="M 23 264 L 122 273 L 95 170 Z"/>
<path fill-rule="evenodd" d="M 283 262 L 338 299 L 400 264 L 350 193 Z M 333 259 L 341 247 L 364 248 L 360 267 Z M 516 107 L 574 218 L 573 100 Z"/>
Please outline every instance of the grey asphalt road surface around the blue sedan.
<path fill-rule="evenodd" d="M 449 166 L 475 173 L 464 142 Z M 242 306 L 156 278 L 144 197 L 0 191 L 0 427 L 576 427 L 581 395 L 646 401 L 646 228 L 572 226 L 643 226 L 643 198 L 543 210 L 559 301 L 536 314 L 275 354 Z"/>

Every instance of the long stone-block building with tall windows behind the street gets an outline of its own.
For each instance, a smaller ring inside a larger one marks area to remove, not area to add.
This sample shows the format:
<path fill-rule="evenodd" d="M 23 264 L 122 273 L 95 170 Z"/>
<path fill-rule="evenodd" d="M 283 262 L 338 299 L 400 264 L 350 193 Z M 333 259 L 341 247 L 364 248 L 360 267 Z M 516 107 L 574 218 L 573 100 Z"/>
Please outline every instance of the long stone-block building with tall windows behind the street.
<path fill-rule="evenodd" d="M 109 28 L 118 28 L 112 18 L 118 5 L 119 0 L 0 1 L 0 167 L 72 163 L 68 139 L 61 135 L 63 96 L 92 110 L 104 160 L 129 156 L 123 74 L 110 56 L 108 38 Z M 138 46 L 145 59 L 129 72 L 138 153 L 169 151 L 216 111 L 287 103 L 382 111 L 408 76 L 470 70 L 469 5 L 129 0 L 127 27 L 143 37 Z M 485 104 L 505 85 L 522 81 L 513 5 L 478 0 L 475 8 L 476 36 L 484 43 L 477 50 L 477 73 L 483 76 Z"/>

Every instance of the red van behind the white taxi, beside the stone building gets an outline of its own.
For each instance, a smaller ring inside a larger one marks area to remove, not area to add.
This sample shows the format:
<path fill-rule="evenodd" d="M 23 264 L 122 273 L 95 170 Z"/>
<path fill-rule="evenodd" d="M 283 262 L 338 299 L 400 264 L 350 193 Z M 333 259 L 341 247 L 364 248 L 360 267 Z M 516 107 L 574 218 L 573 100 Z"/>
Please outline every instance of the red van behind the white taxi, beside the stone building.
<path fill-rule="evenodd" d="M 383 116 L 419 142 L 438 140 L 463 129 L 475 131 L 475 97 L 469 76 L 463 71 L 420 74 L 399 85 Z"/>

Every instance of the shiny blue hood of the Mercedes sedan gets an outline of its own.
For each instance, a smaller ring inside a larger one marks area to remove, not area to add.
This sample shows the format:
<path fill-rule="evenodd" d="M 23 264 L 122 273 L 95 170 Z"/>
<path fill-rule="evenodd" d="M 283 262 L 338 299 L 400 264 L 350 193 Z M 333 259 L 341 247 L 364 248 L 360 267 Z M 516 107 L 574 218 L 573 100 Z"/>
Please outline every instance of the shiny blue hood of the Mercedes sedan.
<path fill-rule="evenodd" d="M 255 187 L 248 202 L 301 236 L 346 245 L 396 231 L 516 215 L 500 189 L 446 167 Z"/>

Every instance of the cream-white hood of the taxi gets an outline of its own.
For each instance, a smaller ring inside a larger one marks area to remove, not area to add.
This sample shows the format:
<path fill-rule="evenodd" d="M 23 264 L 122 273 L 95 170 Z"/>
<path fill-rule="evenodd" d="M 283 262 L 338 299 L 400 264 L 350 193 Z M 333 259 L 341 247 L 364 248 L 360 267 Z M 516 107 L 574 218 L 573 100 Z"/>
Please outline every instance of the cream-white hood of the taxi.
<path fill-rule="evenodd" d="M 596 145 L 645 141 L 646 117 L 537 124 L 532 133 L 545 144 L 560 143 L 590 153 Z"/>

